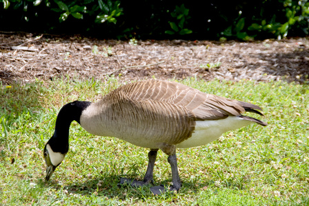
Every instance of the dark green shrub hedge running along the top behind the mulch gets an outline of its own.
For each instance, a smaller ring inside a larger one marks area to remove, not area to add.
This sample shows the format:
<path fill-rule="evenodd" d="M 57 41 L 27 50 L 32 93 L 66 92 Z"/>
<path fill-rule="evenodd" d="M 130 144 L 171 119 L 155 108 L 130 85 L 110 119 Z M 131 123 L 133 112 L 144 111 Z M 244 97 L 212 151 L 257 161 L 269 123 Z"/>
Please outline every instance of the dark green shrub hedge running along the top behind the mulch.
<path fill-rule="evenodd" d="M 308 0 L 203 3 L 206 6 L 183 0 L 0 0 L 0 30 L 243 41 L 309 34 Z"/>

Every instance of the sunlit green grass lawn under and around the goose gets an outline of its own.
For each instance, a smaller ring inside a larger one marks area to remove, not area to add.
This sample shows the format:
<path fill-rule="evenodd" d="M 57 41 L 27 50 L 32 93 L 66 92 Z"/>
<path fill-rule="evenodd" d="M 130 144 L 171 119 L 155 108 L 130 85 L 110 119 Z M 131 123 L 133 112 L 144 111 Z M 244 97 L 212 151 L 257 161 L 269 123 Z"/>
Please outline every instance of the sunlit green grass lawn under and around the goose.
<path fill-rule="evenodd" d="M 203 92 L 258 104 L 268 122 L 226 133 L 206 146 L 177 150 L 183 186 L 153 196 L 142 179 L 148 150 L 70 128 L 70 150 L 46 183 L 42 150 L 57 112 L 73 100 L 95 101 L 117 80 L 56 80 L 0 89 L 0 205 L 309 205 L 309 86 L 286 82 L 183 80 Z M 257 115 L 253 114 L 253 117 Z M 170 183 L 159 152 L 155 184 Z"/>

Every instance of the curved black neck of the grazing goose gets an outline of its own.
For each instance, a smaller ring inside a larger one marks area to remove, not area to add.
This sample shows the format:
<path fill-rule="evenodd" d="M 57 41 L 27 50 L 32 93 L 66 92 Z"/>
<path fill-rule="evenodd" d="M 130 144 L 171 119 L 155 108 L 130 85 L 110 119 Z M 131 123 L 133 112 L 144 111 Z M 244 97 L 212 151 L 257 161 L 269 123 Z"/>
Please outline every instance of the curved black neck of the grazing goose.
<path fill-rule="evenodd" d="M 69 149 L 69 129 L 72 121 L 80 124 L 81 113 L 91 102 L 75 101 L 64 105 L 57 115 L 54 135 L 48 141 L 48 144 L 54 152 L 65 154 Z"/>

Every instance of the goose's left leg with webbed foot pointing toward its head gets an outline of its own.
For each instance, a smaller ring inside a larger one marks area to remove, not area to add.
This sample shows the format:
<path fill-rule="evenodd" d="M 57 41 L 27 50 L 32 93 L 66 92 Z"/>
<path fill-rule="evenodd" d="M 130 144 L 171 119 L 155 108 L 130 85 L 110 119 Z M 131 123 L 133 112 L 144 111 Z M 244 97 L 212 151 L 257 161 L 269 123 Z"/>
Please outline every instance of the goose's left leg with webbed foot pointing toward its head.
<path fill-rule="evenodd" d="M 146 174 L 143 178 L 143 181 L 136 181 L 132 179 L 127 178 L 121 178 L 119 185 L 123 185 L 124 183 L 129 183 L 132 186 L 135 187 L 141 187 L 143 185 L 148 185 L 149 183 L 152 183 L 153 181 L 153 169 L 155 168 L 155 161 L 157 158 L 157 153 L 159 149 L 151 149 L 150 152 L 148 152 L 148 167 Z"/>

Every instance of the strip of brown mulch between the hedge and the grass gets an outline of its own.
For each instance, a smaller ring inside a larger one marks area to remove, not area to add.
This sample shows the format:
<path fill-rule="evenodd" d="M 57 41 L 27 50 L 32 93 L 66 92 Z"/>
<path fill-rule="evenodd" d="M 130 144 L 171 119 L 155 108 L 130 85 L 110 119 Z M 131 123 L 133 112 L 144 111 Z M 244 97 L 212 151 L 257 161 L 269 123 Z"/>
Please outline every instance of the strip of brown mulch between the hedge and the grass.
<path fill-rule="evenodd" d="M 207 66 L 208 65 L 208 66 Z M 211 66 L 212 65 L 212 66 Z M 187 78 L 308 82 L 308 38 L 228 41 L 98 40 L 0 34 L 0 83 L 35 78 Z"/>

